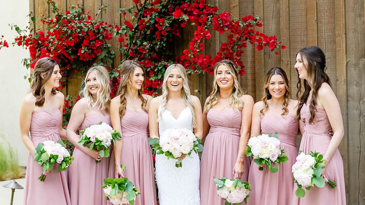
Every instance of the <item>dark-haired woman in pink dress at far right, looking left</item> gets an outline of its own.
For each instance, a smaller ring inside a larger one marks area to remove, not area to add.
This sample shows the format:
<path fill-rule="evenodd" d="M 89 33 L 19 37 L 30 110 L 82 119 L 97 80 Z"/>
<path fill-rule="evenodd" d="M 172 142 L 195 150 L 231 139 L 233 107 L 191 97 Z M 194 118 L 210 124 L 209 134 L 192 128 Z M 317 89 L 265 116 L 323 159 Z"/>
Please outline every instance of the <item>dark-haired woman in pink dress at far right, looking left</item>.
<path fill-rule="evenodd" d="M 322 174 L 337 183 L 336 188 L 313 187 L 306 190 L 303 198 L 295 196 L 296 186 L 292 194 L 293 205 L 346 205 L 344 165 L 338 146 L 344 137 L 340 104 L 330 87 L 329 76 L 325 73 L 326 57 L 323 51 L 316 47 L 307 47 L 296 55 L 294 68 L 298 71 L 298 91 L 304 84 L 304 93 L 300 96 L 297 120 L 304 123 L 304 132 L 299 150 L 305 154 L 310 151 L 323 154 L 326 168 Z M 301 81 L 303 80 L 303 82 Z M 332 127 L 333 136 L 328 134 Z"/>

